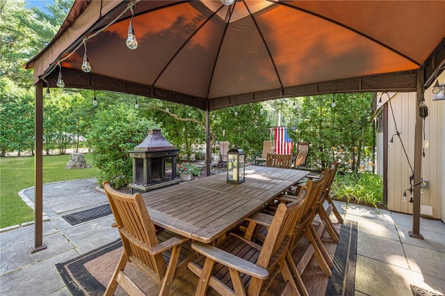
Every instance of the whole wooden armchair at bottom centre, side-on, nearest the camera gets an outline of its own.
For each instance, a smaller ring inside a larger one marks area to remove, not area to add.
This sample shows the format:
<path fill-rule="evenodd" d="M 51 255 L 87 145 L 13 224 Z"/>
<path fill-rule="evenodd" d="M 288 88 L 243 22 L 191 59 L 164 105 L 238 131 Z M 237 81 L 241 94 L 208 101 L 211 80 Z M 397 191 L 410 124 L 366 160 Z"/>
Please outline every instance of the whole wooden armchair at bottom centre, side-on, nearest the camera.
<path fill-rule="evenodd" d="M 221 295 L 264 295 L 277 272 L 286 281 L 284 290 L 299 295 L 297 282 L 301 279 L 293 277 L 286 255 L 304 201 L 278 206 L 262 246 L 234 233 L 217 247 L 192 242 L 192 248 L 202 254 L 188 264 L 200 277 L 196 295 L 204 295 L 208 286 Z"/>

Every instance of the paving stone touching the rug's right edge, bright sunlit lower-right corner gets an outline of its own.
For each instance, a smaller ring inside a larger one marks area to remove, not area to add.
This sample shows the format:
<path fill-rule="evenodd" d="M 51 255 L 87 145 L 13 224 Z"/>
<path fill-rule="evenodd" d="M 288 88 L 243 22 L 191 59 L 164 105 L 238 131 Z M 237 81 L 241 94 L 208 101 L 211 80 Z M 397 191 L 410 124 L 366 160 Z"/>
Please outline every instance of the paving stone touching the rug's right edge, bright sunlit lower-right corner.
<path fill-rule="evenodd" d="M 383 250 L 390 250 L 390 252 L 382 252 Z M 357 255 L 373 258 L 399 268 L 409 269 L 401 242 L 398 240 L 373 236 L 359 231 L 357 233 Z"/>

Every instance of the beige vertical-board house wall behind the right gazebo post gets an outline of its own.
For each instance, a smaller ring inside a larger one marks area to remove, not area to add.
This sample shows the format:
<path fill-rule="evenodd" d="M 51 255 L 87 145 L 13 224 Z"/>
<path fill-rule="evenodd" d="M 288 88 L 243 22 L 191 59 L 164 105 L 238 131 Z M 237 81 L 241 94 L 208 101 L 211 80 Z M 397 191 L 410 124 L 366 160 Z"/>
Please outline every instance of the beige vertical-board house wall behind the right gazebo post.
<path fill-rule="evenodd" d="M 442 74 L 439 77 L 441 83 L 445 82 L 444 76 Z M 429 181 L 430 184 L 429 189 L 424 189 L 421 194 L 421 204 L 432 207 L 433 217 L 445 220 L 445 201 L 442 202 L 445 198 L 445 131 L 443 128 L 445 125 L 445 101 L 432 101 L 433 96 L 431 89 L 425 91 L 425 101 L 428 106 L 425 139 L 429 141 L 429 147 L 424 149 L 422 178 Z M 412 203 L 409 202 L 410 192 L 407 191 L 407 202 L 403 202 L 402 196 L 405 189 L 410 188 L 411 166 L 414 167 L 414 126 L 416 112 L 419 112 L 418 106 L 416 106 L 416 93 L 396 93 L 391 96 L 391 100 L 387 104 L 389 104 L 387 141 L 389 142 L 392 135 L 396 133 L 396 126 L 401 133 L 401 140 L 394 135 L 393 147 L 388 148 L 388 208 L 391 211 L 412 214 Z"/>

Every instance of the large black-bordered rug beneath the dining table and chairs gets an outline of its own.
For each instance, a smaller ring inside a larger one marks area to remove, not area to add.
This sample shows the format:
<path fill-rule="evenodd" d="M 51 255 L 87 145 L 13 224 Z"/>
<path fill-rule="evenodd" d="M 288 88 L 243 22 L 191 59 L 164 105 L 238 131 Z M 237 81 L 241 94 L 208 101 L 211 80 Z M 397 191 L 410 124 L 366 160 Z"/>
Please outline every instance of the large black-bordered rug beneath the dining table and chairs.
<path fill-rule="evenodd" d="M 65 281 L 72 295 L 103 295 L 108 281 L 111 279 L 116 265 L 118 265 L 118 260 L 122 253 L 121 247 L 122 242 L 115 240 L 108 245 L 77 256 L 70 261 L 56 264 L 60 277 Z M 341 225 L 340 241 L 334 255 L 332 276 L 328 281 L 324 280 L 320 283 L 314 283 L 322 286 L 327 285 L 325 295 L 354 295 L 356 252 L 357 223 L 345 221 Z M 316 268 L 316 273 L 321 273 L 318 266 Z M 159 293 L 159 285 L 149 279 L 146 274 L 140 272 L 132 263 L 127 264 L 125 272 L 143 290 L 149 291 L 149 295 L 157 295 Z M 190 270 L 186 270 L 173 281 L 170 295 L 194 295 L 196 285 L 197 277 Z M 308 290 L 310 295 L 315 295 L 310 292 L 311 289 L 309 287 Z M 209 295 L 216 295 L 213 290 L 208 290 L 207 292 L 209 292 Z M 118 286 L 115 295 L 125 295 L 124 290 Z M 318 295 L 321 296 L 321 294 Z"/>

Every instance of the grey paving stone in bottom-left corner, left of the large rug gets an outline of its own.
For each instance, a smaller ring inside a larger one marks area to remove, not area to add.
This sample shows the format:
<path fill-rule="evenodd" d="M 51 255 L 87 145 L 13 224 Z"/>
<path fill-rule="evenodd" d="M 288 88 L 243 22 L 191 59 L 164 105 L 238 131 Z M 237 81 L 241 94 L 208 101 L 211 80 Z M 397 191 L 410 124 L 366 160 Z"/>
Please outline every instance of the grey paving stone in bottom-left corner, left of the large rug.
<path fill-rule="evenodd" d="M 51 291 L 61 290 L 65 286 L 65 283 L 58 275 L 55 265 L 77 255 L 74 249 L 70 249 L 67 252 L 51 256 L 44 261 L 2 275 L 0 279 L 0 295 L 49 295 Z"/>

